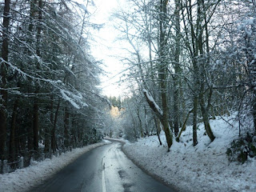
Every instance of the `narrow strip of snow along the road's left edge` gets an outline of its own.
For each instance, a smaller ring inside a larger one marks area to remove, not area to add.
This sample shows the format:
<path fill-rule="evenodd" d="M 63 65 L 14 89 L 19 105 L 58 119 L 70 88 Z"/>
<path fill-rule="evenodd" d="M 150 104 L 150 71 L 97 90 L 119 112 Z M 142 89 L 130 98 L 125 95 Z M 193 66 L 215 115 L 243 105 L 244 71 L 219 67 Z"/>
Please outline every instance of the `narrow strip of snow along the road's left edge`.
<path fill-rule="evenodd" d="M 29 190 L 31 187 L 37 186 L 43 180 L 58 172 L 58 170 L 61 170 L 64 166 L 67 166 L 70 162 L 73 162 L 82 154 L 107 143 L 109 141 L 103 140 L 103 142 L 77 148 L 52 159 L 46 158 L 42 162 L 33 162 L 33 166 L 15 170 L 9 174 L 0 174 L 0 191 L 18 192 Z"/>

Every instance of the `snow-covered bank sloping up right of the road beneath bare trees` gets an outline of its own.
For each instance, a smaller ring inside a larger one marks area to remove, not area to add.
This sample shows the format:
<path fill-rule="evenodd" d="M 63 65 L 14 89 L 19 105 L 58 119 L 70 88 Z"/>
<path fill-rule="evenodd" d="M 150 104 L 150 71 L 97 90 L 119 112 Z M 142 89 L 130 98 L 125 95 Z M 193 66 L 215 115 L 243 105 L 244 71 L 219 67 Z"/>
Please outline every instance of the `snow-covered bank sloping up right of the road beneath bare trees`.
<path fill-rule="evenodd" d="M 226 156 L 226 149 L 238 136 L 238 129 L 231 128 L 222 118 L 211 120 L 210 125 L 216 136 L 214 142 L 204 135 L 204 127 L 200 124 L 197 146 L 193 146 L 192 127 L 188 126 L 182 133 L 181 142 L 174 142 L 170 152 L 166 152 L 166 146 L 159 146 L 157 136 L 127 143 L 124 150 L 140 166 L 178 190 L 256 191 L 256 158 L 241 164 L 229 162 Z M 161 139 L 166 143 L 163 133 Z"/>

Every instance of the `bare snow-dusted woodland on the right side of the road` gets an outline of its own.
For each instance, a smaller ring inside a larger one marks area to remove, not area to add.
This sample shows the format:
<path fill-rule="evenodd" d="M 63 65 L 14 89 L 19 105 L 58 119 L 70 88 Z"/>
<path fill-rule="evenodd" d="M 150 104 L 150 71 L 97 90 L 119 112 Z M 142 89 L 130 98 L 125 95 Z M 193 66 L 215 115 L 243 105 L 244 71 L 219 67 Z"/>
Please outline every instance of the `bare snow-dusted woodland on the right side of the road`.
<path fill-rule="evenodd" d="M 121 81 L 129 91 L 122 99 L 125 110 L 110 120 L 107 133 L 136 141 L 163 130 L 171 150 L 187 126 L 198 145 L 201 122 L 213 142 L 210 120 L 227 116 L 239 125 L 230 124 L 238 139 L 227 154 L 242 162 L 255 156 L 256 2 L 128 2 L 112 19 L 118 40 L 127 45 L 118 58 L 126 65 Z"/>

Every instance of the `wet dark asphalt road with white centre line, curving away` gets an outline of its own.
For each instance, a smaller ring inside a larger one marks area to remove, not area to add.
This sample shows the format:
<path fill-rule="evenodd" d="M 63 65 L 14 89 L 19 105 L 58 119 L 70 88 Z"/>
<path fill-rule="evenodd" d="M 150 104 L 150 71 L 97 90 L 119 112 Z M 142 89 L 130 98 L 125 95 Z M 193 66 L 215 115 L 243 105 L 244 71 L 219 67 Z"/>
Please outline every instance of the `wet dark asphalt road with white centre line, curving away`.
<path fill-rule="evenodd" d="M 30 191 L 174 192 L 135 166 L 121 147 L 113 142 L 90 150 Z"/>

